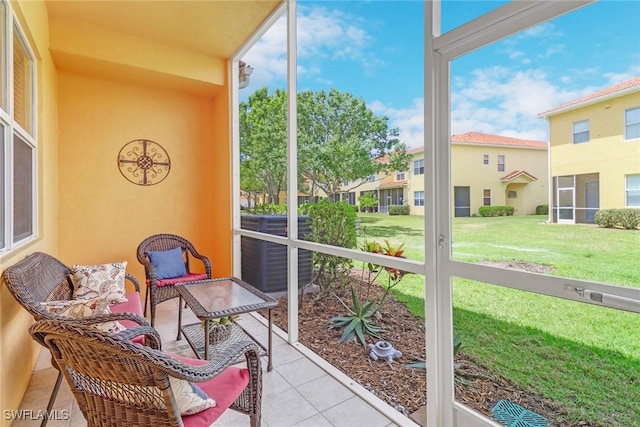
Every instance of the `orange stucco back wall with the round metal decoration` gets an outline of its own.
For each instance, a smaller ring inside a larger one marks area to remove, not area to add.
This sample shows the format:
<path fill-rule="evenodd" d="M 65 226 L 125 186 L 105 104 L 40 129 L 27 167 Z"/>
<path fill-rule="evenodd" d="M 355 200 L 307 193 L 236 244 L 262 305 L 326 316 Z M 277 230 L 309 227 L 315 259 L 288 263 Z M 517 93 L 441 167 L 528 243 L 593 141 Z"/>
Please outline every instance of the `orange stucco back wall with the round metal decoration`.
<path fill-rule="evenodd" d="M 229 126 L 228 114 L 220 114 L 226 100 L 68 72 L 59 73 L 58 87 L 62 261 L 126 260 L 143 279 L 138 244 L 174 233 L 208 255 L 216 275 L 229 274 Z M 135 139 L 168 152 L 165 180 L 141 186 L 122 176 L 118 153 Z"/>

